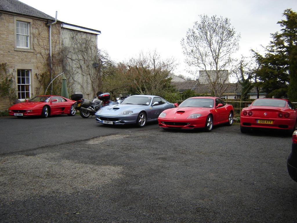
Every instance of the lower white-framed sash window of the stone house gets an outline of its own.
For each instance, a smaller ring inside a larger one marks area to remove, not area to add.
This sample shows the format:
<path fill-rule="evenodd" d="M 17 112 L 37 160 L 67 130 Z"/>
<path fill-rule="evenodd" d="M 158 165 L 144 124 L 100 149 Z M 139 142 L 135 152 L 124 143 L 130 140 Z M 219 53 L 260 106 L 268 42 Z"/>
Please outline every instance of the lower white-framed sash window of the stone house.
<path fill-rule="evenodd" d="M 18 99 L 30 98 L 31 94 L 31 71 L 18 70 Z"/>

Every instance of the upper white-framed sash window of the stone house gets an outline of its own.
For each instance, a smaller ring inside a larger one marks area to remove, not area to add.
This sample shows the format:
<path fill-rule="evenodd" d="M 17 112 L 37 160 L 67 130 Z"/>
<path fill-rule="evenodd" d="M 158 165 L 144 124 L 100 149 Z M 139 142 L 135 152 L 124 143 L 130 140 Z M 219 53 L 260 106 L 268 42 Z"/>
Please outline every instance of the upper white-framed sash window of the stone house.
<path fill-rule="evenodd" d="M 30 23 L 16 21 L 17 48 L 30 48 Z"/>

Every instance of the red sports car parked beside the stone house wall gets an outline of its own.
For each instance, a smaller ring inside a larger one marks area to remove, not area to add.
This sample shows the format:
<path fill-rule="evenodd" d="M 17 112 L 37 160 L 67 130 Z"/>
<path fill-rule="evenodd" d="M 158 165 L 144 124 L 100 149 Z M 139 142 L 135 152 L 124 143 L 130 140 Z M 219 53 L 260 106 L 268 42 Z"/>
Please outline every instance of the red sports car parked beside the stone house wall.
<path fill-rule="evenodd" d="M 17 117 L 41 115 L 43 118 L 56 114 L 73 116 L 76 113 L 74 103 L 73 100 L 56 95 L 37 96 L 11 106 L 8 109 L 8 114 Z"/>

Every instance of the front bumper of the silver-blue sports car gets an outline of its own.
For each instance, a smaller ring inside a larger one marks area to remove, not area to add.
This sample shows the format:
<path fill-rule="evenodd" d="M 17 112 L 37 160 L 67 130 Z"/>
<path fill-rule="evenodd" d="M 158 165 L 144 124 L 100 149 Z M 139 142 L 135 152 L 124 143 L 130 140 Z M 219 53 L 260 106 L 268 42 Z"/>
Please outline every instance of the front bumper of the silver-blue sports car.
<path fill-rule="evenodd" d="M 137 115 L 101 115 L 95 114 L 96 122 L 104 124 L 103 121 L 111 121 L 113 125 L 125 125 L 125 124 L 135 124 L 138 114 Z"/>

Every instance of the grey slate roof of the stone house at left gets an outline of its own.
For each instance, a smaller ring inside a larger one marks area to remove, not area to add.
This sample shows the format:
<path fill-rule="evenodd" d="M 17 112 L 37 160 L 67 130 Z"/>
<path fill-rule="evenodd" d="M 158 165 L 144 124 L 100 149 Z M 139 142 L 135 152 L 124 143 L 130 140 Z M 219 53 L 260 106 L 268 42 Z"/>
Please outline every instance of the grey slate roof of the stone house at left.
<path fill-rule="evenodd" d="M 47 15 L 33 7 L 24 4 L 18 0 L 0 0 L 0 12 L 10 12 L 19 15 L 26 15 L 35 18 L 41 18 L 46 20 L 54 21 L 55 18 Z"/>

